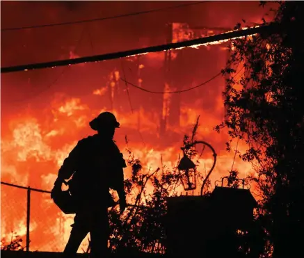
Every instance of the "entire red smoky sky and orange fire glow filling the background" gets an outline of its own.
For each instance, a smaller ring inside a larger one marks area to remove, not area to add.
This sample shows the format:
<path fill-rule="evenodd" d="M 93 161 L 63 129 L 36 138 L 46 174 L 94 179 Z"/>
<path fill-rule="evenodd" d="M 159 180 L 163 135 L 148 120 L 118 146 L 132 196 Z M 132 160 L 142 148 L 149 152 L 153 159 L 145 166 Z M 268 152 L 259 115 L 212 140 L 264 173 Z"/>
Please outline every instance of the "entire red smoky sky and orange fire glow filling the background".
<path fill-rule="evenodd" d="M 106 17 L 182 2 L 131 3 L 2 1 L 1 29 L 20 24 Z M 232 28 L 244 17 L 248 22 L 260 22 L 264 13 L 265 10 L 258 8 L 258 2 L 209 2 L 92 24 L 9 31 L 1 35 L 1 67 L 164 44 L 168 22 Z M 200 115 L 196 138 L 210 143 L 218 154 L 210 178 L 214 187 L 216 179 L 227 175 L 234 157 L 234 153 L 225 151 L 227 134 L 213 131 L 225 113 L 221 95 L 225 78 L 220 76 L 180 95 L 155 95 L 129 86 L 130 102 L 125 83 L 120 78 L 157 91 L 191 88 L 225 67 L 226 45 L 174 51 L 170 82 L 166 85 L 163 52 L 102 63 L 1 74 L 1 181 L 50 191 L 58 168 L 77 140 L 94 134 L 88 122 L 101 111 L 113 111 L 121 124 L 115 134 L 120 150 L 127 158 L 127 135 L 129 147 L 145 169 L 161 166 L 161 156 L 166 166 L 175 166 L 182 138 L 184 134 L 191 135 Z M 111 92 L 113 89 L 118 92 Z M 168 124 L 166 135 L 162 136 L 161 118 L 166 114 Z M 246 150 L 246 145 L 240 142 L 238 150 Z M 211 152 L 206 150 L 200 170 L 203 172 L 206 167 L 208 171 L 212 161 Z M 239 170 L 240 177 L 252 172 L 250 164 L 238 156 L 234 169 Z M 129 174 L 127 168 L 125 177 Z M 198 192 L 199 189 L 195 194 Z M 70 234 L 70 224 L 72 217 L 63 216 L 49 195 L 31 193 L 31 250 L 62 251 Z M 25 239 L 26 190 L 1 185 L 1 238 L 9 241 L 12 231 Z"/>

